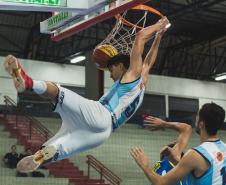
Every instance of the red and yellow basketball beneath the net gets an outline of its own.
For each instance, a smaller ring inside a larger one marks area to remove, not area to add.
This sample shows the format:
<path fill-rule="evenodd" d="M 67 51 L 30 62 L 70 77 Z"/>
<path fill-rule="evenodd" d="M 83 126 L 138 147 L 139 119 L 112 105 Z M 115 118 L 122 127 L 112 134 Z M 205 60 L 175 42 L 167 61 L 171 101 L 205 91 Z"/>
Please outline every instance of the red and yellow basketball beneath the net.
<path fill-rule="evenodd" d="M 93 62 L 97 68 L 103 70 L 107 68 L 108 60 L 118 54 L 117 49 L 109 44 L 97 46 L 93 51 Z"/>

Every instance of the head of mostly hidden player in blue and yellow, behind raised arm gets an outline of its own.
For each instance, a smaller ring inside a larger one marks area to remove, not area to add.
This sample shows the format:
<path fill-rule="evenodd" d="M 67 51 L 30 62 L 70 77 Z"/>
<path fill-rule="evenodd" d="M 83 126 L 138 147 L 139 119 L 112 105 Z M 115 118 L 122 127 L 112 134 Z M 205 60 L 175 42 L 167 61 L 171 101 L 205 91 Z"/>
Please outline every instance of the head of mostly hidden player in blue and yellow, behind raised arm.
<path fill-rule="evenodd" d="M 178 156 L 172 153 L 170 149 L 173 149 L 173 147 L 176 145 L 176 142 L 169 143 L 168 145 L 164 146 L 160 151 L 160 160 L 163 160 L 165 157 L 167 157 L 170 161 L 174 161 Z M 179 156 L 179 158 L 183 157 L 184 152 L 182 152 Z"/>

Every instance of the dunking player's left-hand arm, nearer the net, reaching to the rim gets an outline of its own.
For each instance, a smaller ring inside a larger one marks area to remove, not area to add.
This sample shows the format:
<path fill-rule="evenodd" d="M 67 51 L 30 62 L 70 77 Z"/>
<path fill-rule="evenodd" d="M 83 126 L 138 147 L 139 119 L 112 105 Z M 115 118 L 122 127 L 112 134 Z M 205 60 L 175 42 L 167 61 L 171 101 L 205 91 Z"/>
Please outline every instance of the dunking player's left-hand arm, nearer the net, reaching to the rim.
<path fill-rule="evenodd" d="M 126 73 L 130 79 L 135 80 L 141 75 L 143 69 L 142 54 L 144 51 L 144 45 L 151 38 L 151 36 L 162 29 L 162 27 L 163 23 L 162 21 L 159 21 L 152 26 L 142 29 L 136 34 L 130 54 L 130 67 Z"/>

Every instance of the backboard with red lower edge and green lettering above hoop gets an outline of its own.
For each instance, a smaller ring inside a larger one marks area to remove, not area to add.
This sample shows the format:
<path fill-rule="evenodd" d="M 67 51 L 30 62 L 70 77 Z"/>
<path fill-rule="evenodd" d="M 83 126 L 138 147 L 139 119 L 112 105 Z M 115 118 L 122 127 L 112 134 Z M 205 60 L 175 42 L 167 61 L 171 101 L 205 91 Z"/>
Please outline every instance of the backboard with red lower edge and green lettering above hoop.
<path fill-rule="evenodd" d="M 77 6 L 80 5 L 76 8 L 82 11 L 55 12 L 51 18 L 40 23 L 40 32 L 51 34 L 52 40 L 60 41 L 147 1 L 74 0 Z M 69 4 L 68 6 L 70 8 Z"/>

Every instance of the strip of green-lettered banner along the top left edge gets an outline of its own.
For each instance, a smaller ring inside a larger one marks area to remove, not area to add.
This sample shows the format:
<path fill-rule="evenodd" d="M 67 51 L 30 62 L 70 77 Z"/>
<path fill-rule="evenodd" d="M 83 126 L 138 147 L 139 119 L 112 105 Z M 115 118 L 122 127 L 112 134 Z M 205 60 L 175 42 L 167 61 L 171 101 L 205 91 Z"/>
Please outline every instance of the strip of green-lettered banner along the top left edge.
<path fill-rule="evenodd" d="M 47 5 L 47 6 L 60 6 L 62 4 L 61 1 L 62 0 L 0 0 L 0 2 Z"/>

